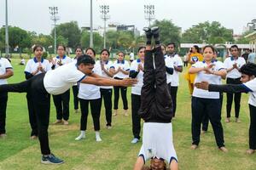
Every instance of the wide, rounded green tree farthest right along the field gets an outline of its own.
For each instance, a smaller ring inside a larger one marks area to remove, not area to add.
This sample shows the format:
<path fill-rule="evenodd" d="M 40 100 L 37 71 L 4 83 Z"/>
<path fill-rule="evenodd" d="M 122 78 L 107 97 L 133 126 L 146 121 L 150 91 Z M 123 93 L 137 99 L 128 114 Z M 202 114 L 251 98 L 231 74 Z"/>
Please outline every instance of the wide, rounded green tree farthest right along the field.
<path fill-rule="evenodd" d="M 221 26 L 217 21 L 212 21 L 212 23 L 206 21 L 184 31 L 182 42 L 211 44 L 234 42 L 232 33 L 232 30 Z"/>

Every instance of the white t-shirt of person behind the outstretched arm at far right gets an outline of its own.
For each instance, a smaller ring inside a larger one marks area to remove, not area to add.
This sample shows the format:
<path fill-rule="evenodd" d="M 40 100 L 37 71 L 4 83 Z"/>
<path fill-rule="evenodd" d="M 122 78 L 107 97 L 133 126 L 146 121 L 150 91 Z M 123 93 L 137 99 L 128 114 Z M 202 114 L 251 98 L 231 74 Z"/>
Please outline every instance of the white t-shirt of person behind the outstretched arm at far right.
<path fill-rule="evenodd" d="M 230 69 L 233 67 L 233 65 L 237 63 L 238 68 L 241 68 L 242 65 L 246 64 L 246 60 L 243 59 L 242 57 L 238 57 L 238 59 L 235 59 L 234 57 L 229 57 L 224 60 L 224 68 L 225 69 Z M 228 78 L 240 78 L 241 77 L 241 72 L 239 72 L 237 69 L 233 69 L 232 71 L 227 73 Z"/>

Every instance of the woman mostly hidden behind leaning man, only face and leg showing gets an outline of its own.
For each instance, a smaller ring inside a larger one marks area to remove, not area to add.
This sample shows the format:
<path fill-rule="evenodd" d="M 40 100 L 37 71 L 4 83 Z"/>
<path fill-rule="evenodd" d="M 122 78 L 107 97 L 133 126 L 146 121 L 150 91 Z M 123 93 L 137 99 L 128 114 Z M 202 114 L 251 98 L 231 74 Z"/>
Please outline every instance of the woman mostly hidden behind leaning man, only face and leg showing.
<path fill-rule="evenodd" d="M 83 54 L 83 48 L 81 47 L 77 47 L 75 49 L 75 53 L 76 56 L 73 58 L 73 62 L 77 62 L 79 56 L 81 56 Z M 73 107 L 74 107 L 74 112 L 75 113 L 79 113 L 79 88 L 78 88 L 78 84 L 76 83 L 75 85 L 73 85 L 72 87 L 73 89 Z"/>

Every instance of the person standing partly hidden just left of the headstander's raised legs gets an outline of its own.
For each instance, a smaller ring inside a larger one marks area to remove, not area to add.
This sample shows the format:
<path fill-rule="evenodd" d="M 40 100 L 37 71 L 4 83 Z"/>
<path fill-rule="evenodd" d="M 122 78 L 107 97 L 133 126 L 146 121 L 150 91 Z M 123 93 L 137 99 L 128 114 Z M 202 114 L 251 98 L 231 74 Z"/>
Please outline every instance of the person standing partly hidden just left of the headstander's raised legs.
<path fill-rule="evenodd" d="M 144 55 L 145 47 L 138 48 L 138 59 L 131 63 L 130 75 L 131 78 L 137 78 L 137 84 L 131 88 L 131 120 L 132 120 L 132 133 L 133 139 L 131 144 L 136 144 L 140 137 L 141 132 L 141 117 L 138 116 L 137 111 L 141 105 L 141 91 L 143 88 L 143 71 L 144 71 Z"/>

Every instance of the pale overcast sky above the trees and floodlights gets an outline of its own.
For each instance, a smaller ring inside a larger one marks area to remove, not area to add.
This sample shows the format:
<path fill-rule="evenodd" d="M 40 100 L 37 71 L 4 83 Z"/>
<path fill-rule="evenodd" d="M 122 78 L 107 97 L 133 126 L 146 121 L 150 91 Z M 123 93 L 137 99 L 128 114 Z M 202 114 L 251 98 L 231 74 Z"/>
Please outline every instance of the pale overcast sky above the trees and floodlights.
<path fill-rule="evenodd" d="M 79 26 L 90 24 L 90 0 L 8 0 L 9 26 L 19 26 L 28 31 L 49 34 L 52 21 L 49 6 L 59 8 L 58 23 L 77 20 Z M 139 30 L 148 26 L 144 20 L 144 4 L 154 4 L 157 20 L 172 20 L 183 31 L 206 20 L 219 21 L 223 26 L 241 33 L 243 27 L 256 19 L 256 0 L 93 0 L 94 27 L 103 26 L 99 5 L 110 6 L 111 19 L 135 25 Z M 5 0 L 0 0 L 0 27 L 5 25 Z"/>

